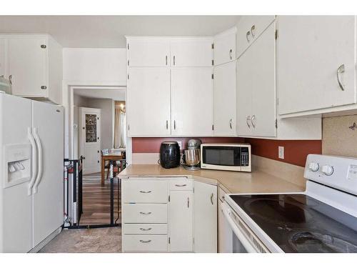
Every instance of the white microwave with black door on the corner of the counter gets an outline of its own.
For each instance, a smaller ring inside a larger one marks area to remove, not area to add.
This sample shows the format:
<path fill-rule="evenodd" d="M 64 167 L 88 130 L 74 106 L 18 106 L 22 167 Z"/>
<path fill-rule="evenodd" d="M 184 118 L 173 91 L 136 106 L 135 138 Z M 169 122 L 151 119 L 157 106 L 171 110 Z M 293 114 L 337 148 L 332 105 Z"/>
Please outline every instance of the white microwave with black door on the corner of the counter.
<path fill-rule="evenodd" d="M 251 144 L 201 144 L 201 169 L 251 172 Z"/>

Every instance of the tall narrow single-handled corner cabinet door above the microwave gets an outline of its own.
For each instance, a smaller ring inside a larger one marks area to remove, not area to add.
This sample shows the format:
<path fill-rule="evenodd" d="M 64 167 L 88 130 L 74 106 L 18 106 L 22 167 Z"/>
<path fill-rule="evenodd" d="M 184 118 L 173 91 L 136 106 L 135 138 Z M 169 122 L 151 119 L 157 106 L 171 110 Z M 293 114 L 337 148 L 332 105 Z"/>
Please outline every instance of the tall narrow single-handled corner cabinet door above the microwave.
<path fill-rule="evenodd" d="M 236 135 L 236 61 L 214 67 L 214 135 Z"/>

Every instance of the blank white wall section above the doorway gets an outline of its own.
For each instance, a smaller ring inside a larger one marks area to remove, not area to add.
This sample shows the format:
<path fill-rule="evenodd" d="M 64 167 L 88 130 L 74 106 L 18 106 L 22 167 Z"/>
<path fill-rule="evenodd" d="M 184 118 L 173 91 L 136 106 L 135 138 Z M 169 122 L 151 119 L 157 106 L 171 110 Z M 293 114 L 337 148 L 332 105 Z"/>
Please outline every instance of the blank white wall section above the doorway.
<path fill-rule="evenodd" d="M 76 84 L 126 86 L 126 49 L 63 50 L 63 79 Z"/>

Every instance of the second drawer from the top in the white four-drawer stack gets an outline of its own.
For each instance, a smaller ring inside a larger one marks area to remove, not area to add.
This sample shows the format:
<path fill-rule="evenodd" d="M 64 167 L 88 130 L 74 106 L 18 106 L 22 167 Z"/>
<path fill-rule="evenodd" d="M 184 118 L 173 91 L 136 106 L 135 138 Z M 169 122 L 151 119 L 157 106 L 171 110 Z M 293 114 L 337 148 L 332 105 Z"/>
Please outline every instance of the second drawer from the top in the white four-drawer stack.
<path fill-rule="evenodd" d="M 123 204 L 124 223 L 167 223 L 166 204 Z"/>

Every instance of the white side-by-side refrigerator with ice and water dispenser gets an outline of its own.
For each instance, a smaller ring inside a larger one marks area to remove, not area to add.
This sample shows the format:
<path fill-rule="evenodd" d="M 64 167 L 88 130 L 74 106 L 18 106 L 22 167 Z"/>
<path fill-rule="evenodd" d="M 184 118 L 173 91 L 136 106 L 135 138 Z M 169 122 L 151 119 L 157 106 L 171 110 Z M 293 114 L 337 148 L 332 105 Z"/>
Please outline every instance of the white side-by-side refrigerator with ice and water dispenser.
<path fill-rule="evenodd" d="M 64 111 L 0 93 L 0 252 L 36 251 L 64 222 Z"/>

